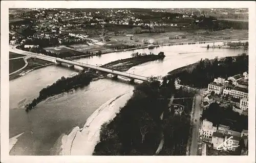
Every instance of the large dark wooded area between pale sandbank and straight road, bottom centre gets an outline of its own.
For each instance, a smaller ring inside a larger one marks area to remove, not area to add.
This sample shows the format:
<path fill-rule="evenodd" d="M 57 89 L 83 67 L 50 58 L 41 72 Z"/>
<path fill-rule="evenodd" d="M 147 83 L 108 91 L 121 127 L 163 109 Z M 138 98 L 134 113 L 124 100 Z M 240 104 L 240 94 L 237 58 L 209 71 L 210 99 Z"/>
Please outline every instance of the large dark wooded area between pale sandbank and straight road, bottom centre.
<path fill-rule="evenodd" d="M 172 143 L 161 155 L 185 155 L 190 119 L 185 113 L 174 115 L 168 111 L 166 98 L 175 92 L 174 80 L 164 80 L 160 86 L 157 78 L 152 78 L 135 86 L 133 97 L 114 120 L 102 125 L 93 155 L 155 155 L 162 133 Z M 163 120 L 162 112 L 166 114 Z M 184 136 L 179 136 L 181 133 Z"/>

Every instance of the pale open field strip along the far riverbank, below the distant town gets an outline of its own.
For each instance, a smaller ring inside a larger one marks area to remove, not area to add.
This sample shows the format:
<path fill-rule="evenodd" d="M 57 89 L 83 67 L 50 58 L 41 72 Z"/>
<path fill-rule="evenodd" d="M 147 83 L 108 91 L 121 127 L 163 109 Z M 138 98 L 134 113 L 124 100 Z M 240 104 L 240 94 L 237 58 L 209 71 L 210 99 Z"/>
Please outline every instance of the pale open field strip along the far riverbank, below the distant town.
<path fill-rule="evenodd" d="M 248 30 L 221 30 L 221 31 L 210 31 L 206 32 L 205 30 L 195 30 L 193 31 L 172 31 L 165 33 L 143 33 L 143 34 L 134 34 L 132 36 L 133 40 L 130 39 L 130 36 L 125 36 L 127 34 L 121 34 L 115 36 L 110 34 L 110 40 L 106 43 L 113 45 L 120 44 L 143 44 L 142 40 L 146 39 L 148 43 L 178 43 L 178 42 L 188 42 L 188 41 L 212 41 L 212 40 L 223 40 L 223 39 L 236 39 L 236 38 L 248 38 Z M 179 35 L 179 39 L 169 39 L 171 36 Z M 181 38 L 186 36 L 186 38 Z M 100 37 L 93 37 L 93 39 L 100 39 Z"/>

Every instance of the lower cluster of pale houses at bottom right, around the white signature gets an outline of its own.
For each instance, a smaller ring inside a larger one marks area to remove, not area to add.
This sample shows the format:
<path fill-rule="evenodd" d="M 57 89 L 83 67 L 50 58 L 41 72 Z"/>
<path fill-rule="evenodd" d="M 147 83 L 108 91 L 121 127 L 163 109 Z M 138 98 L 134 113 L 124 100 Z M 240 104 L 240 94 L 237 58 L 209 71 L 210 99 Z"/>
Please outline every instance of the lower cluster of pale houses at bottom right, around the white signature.
<path fill-rule="evenodd" d="M 231 137 L 232 136 L 232 137 Z M 230 138 L 231 137 L 231 138 Z M 202 126 L 199 129 L 199 138 L 202 142 L 209 144 L 213 149 L 217 149 L 228 139 L 233 142 L 232 146 L 238 146 L 240 140 L 244 141 L 245 148 L 248 147 L 248 130 L 237 132 L 230 130 L 229 126 L 219 125 L 213 126 L 212 122 L 203 120 Z M 224 151 L 235 151 L 237 147 L 226 148 Z M 242 152 L 245 152 L 242 150 Z"/>

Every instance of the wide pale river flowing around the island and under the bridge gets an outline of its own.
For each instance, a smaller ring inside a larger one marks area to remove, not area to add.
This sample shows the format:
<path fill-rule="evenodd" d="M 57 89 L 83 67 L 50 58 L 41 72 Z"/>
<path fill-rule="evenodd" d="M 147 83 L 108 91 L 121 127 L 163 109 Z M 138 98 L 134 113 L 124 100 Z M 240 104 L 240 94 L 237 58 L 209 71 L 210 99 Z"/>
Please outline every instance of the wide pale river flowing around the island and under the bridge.
<path fill-rule="evenodd" d="M 156 54 L 162 51 L 166 57 L 162 61 L 132 67 L 127 72 L 142 76 L 164 76 L 173 69 L 195 63 L 201 58 L 214 59 L 216 56 L 220 58 L 248 53 L 244 50 L 200 48 L 203 45 L 206 44 L 136 50 L 135 52 L 139 53 L 153 52 Z M 94 65 L 105 64 L 118 59 L 130 58 L 132 53 L 133 51 L 110 53 L 76 61 Z M 75 69 L 78 68 L 75 67 Z M 88 117 L 102 104 L 134 87 L 122 81 L 101 79 L 91 82 L 84 88 L 49 98 L 26 113 L 24 104 L 36 98 L 42 88 L 51 85 L 62 76 L 69 77 L 75 73 L 72 69 L 52 65 L 10 81 L 9 137 L 24 132 L 11 150 L 11 155 L 49 155 L 50 148 L 61 133 L 69 132 L 76 125 L 82 127 Z"/>

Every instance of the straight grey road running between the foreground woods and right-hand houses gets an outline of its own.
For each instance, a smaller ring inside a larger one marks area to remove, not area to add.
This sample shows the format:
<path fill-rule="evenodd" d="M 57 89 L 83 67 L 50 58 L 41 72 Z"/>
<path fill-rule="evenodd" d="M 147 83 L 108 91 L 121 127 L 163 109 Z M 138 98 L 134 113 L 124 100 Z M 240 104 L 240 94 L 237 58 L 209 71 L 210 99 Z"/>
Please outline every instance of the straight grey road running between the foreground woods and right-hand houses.
<path fill-rule="evenodd" d="M 198 133 L 199 133 L 199 126 L 200 126 L 200 117 L 201 117 L 201 113 L 202 113 L 202 109 L 201 109 L 201 100 L 202 100 L 202 96 L 201 95 L 196 95 L 196 100 L 195 100 L 195 107 L 194 107 L 194 116 L 192 119 L 192 124 L 193 124 L 193 131 L 192 131 L 192 139 L 191 139 L 191 147 L 190 147 L 190 155 L 192 156 L 196 156 L 197 155 L 197 151 L 198 151 L 198 141 L 199 141 L 199 137 L 198 137 Z M 195 122 L 195 120 L 197 120 L 197 122 Z"/>

